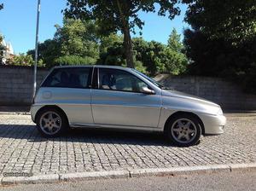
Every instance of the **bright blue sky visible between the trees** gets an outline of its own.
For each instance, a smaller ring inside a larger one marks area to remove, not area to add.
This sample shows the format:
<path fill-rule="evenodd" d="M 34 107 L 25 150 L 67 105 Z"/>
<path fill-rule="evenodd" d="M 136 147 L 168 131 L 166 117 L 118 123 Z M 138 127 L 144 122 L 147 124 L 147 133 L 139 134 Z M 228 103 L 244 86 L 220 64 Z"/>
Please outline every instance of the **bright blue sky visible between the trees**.
<path fill-rule="evenodd" d="M 15 54 L 34 49 L 38 0 L 0 0 L 0 3 L 4 4 L 0 11 L 0 33 L 5 41 L 12 43 Z M 53 38 L 55 24 L 62 24 L 61 9 L 65 9 L 66 3 L 67 0 L 41 0 L 39 42 Z M 174 20 L 169 20 L 167 16 L 140 12 L 139 16 L 145 22 L 143 38 L 167 43 L 173 27 L 182 34 L 183 29 L 189 26 L 183 21 L 186 6 L 180 5 L 180 8 L 181 14 Z"/>

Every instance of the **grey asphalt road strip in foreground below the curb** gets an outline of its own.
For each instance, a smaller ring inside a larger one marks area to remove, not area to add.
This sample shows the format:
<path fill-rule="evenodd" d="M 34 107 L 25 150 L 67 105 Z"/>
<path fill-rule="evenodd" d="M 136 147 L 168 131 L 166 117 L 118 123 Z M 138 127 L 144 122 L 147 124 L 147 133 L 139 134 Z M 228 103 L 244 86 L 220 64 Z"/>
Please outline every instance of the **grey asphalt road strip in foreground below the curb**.
<path fill-rule="evenodd" d="M 130 179 L 97 180 L 87 182 L 61 182 L 53 184 L 18 185 L 0 187 L 3 191 L 30 191 L 30 190 L 225 190 L 246 191 L 256 190 L 256 171 L 202 174 L 183 177 L 143 177 Z"/>

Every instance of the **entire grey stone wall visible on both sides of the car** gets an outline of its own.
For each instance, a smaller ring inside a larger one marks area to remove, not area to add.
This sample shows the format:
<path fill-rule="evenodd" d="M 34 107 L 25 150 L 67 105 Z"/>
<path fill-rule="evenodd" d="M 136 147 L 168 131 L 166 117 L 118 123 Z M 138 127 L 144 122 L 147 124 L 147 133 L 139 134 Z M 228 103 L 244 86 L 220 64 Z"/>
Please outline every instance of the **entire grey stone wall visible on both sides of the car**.
<path fill-rule="evenodd" d="M 38 69 L 38 84 L 47 70 Z M 256 110 L 256 96 L 244 94 L 221 78 L 159 75 L 158 81 L 175 90 L 201 96 L 225 109 Z M 0 106 L 27 106 L 32 102 L 33 67 L 0 66 Z"/>

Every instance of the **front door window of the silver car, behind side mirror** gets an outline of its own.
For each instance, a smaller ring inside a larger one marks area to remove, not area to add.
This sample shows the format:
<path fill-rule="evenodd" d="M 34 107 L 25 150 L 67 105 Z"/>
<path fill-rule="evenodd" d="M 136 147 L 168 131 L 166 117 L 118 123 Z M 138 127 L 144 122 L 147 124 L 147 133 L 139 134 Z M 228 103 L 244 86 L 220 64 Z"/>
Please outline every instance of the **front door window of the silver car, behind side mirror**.
<path fill-rule="evenodd" d="M 129 72 L 100 68 L 99 88 L 102 90 L 142 92 L 143 87 L 148 84 Z"/>

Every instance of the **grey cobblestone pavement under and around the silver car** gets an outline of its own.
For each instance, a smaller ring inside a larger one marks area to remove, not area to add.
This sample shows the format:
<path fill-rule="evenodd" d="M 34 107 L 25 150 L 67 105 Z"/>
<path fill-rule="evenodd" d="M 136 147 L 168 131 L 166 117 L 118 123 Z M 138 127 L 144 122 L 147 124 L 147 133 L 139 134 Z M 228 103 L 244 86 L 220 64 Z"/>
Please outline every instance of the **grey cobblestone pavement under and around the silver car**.
<path fill-rule="evenodd" d="M 164 136 L 108 130 L 72 130 L 46 139 L 30 116 L 0 115 L 0 176 L 256 162 L 256 117 L 228 117 L 225 133 L 177 148 Z"/>

